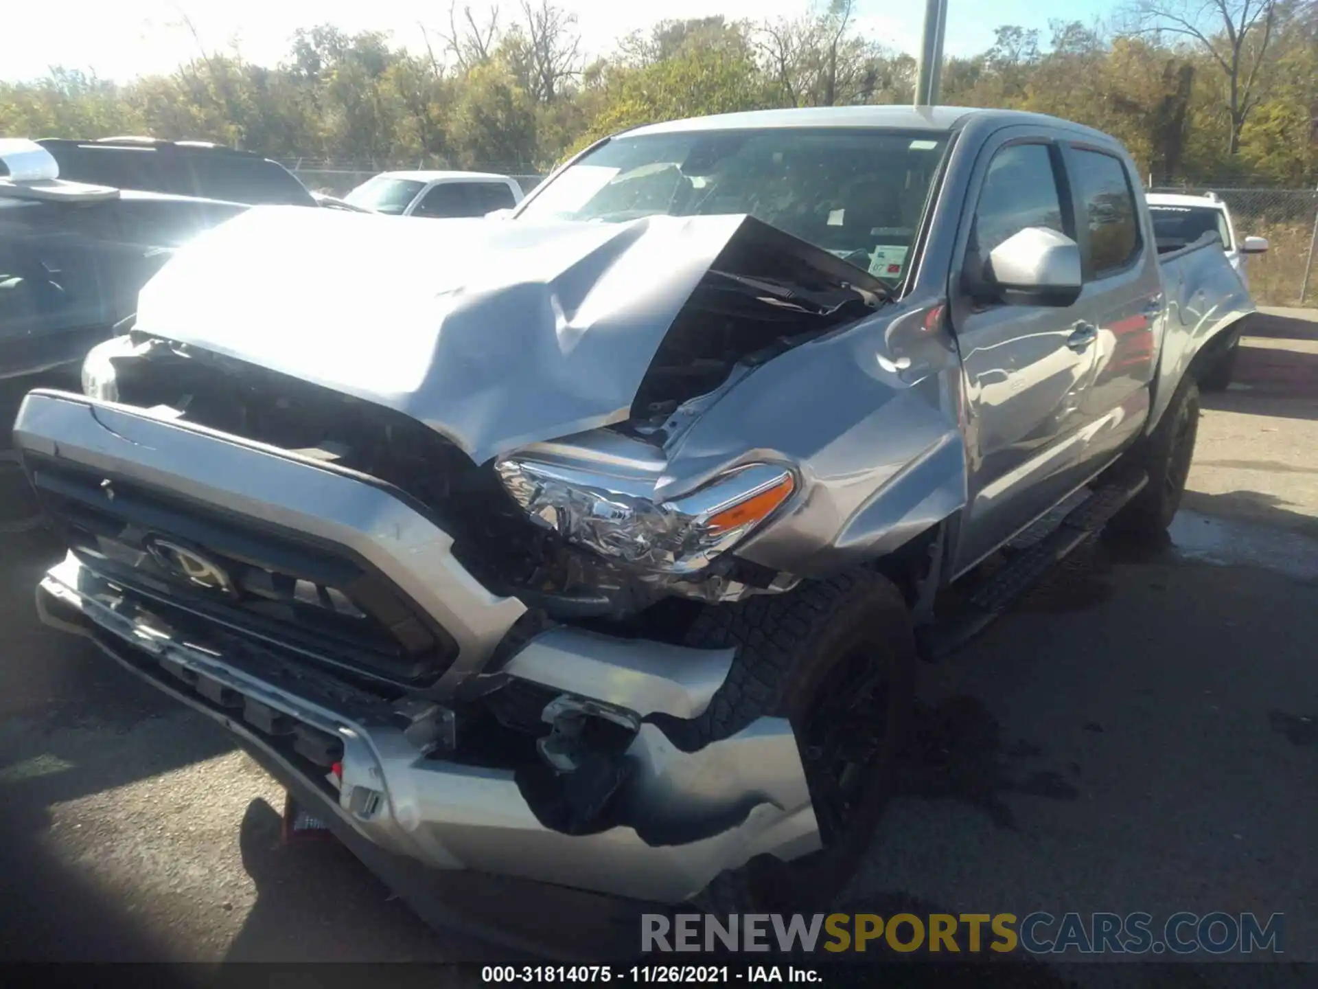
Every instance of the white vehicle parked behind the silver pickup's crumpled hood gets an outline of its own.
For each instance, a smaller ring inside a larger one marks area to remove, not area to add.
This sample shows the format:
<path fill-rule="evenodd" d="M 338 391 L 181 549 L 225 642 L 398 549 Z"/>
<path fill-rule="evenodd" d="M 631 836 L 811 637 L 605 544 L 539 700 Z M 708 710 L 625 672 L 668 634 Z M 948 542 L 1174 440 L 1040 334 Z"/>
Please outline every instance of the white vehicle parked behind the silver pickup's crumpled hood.
<path fill-rule="evenodd" d="M 522 186 L 486 171 L 382 171 L 344 202 L 394 216 L 485 216 L 522 202 Z"/>

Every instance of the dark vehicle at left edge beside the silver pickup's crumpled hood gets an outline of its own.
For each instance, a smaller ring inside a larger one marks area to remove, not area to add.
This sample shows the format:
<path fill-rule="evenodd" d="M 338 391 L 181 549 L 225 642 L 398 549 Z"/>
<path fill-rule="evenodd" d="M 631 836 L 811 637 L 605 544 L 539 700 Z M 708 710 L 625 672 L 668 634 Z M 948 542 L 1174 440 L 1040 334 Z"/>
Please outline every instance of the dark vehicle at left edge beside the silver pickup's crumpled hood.
<path fill-rule="evenodd" d="M 63 181 L 17 138 L 0 138 L 0 380 L 76 378 L 170 253 L 246 208 Z"/>

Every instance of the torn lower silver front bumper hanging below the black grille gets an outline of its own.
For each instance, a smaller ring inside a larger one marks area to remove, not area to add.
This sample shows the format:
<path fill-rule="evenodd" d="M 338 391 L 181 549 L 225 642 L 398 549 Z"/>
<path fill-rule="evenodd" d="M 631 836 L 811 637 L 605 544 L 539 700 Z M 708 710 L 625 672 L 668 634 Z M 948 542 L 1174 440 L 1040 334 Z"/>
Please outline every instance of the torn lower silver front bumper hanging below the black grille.
<path fill-rule="evenodd" d="M 121 659 L 137 653 L 129 658 L 134 666 L 153 679 L 173 675 L 175 691 L 178 682 L 187 684 L 192 705 L 229 728 L 245 721 L 243 733 L 272 754 L 281 754 L 278 738 L 253 731 L 270 727 L 268 712 L 339 738 L 343 783 L 327 807 L 362 837 L 428 866 L 680 902 L 753 856 L 795 858 L 818 848 L 796 741 L 782 719 L 759 719 L 695 753 L 679 752 L 659 728 L 642 724 L 627 752 L 637 761 L 633 785 L 619 794 L 623 816 L 635 824 L 571 836 L 540 824 L 511 770 L 427 756 L 391 723 L 385 702 L 281 663 L 260 646 L 225 654 L 183 636 L 72 556 L 49 571 L 37 597 L 46 624 L 90 634 Z M 256 723 L 252 709 L 260 712 Z M 290 773 L 326 793 L 326 781 L 297 762 L 285 760 Z M 667 833 L 702 823 L 724 827 L 664 843 Z"/>

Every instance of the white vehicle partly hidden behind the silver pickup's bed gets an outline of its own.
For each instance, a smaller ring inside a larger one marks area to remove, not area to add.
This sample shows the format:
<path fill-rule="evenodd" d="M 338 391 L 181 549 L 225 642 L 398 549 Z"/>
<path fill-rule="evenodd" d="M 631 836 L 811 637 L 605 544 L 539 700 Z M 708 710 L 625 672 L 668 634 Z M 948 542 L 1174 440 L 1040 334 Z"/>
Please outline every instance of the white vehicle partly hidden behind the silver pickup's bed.
<path fill-rule="evenodd" d="M 1147 198 L 1160 251 L 1178 251 L 1199 237 L 1215 235 L 1222 241 L 1222 249 L 1231 268 L 1244 286 L 1249 287 L 1247 261 L 1251 255 L 1268 251 L 1267 237 L 1240 237 L 1231 219 L 1231 210 L 1214 193 L 1207 195 L 1151 193 Z M 1231 384 L 1243 330 L 1244 326 L 1239 326 L 1219 340 L 1215 344 L 1218 355 L 1213 360 L 1203 361 L 1199 388 L 1205 392 L 1224 392 Z"/>

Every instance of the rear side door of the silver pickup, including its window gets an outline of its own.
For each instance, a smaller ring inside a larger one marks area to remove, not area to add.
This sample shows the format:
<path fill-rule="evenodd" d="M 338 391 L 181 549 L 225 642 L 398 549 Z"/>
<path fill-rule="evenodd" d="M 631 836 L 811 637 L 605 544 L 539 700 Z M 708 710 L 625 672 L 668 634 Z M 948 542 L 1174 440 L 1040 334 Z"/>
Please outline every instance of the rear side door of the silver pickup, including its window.
<path fill-rule="evenodd" d="M 1081 405 L 1083 467 L 1095 473 L 1144 425 L 1164 310 L 1157 247 L 1143 231 L 1131 166 L 1111 150 L 1064 144 L 1085 289 L 1079 318 L 1097 331 L 1093 384 Z"/>

